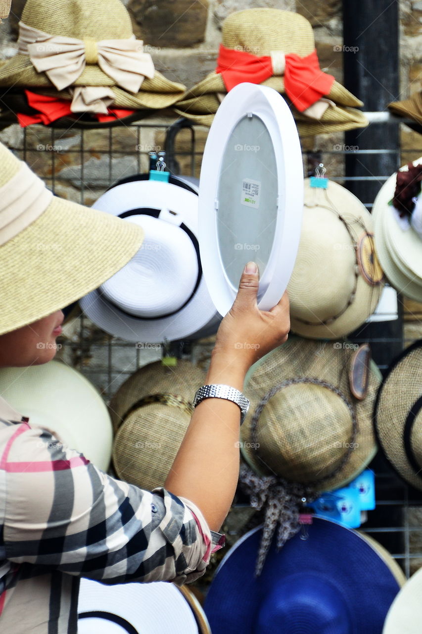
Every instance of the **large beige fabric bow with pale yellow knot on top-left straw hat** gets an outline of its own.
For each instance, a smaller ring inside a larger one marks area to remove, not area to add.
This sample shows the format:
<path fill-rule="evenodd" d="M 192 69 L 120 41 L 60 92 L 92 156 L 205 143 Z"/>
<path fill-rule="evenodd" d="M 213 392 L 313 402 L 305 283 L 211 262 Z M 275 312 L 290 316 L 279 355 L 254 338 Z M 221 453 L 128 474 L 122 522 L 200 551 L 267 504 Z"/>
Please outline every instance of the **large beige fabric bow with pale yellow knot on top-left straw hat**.
<path fill-rule="evenodd" d="M 19 23 L 18 52 L 29 55 L 35 70 L 44 72 L 58 90 L 75 84 L 84 72 L 86 64 L 98 64 L 118 86 L 130 93 L 139 93 L 145 77 L 152 77 L 155 68 L 151 55 L 143 52 L 143 42 L 132 36 L 130 39 L 79 40 L 74 37 L 51 36 L 48 33 Z M 78 99 L 87 103 L 90 112 L 104 112 L 106 100 L 110 100 L 110 88 L 103 89 L 103 95 L 96 91 L 96 99 L 85 95 L 85 87 L 78 93 Z M 103 105 L 98 103 L 103 101 Z M 82 101 L 72 102 L 72 111 L 80 112 Z M 110 105 L 110 103 L 108 103 Z"/>

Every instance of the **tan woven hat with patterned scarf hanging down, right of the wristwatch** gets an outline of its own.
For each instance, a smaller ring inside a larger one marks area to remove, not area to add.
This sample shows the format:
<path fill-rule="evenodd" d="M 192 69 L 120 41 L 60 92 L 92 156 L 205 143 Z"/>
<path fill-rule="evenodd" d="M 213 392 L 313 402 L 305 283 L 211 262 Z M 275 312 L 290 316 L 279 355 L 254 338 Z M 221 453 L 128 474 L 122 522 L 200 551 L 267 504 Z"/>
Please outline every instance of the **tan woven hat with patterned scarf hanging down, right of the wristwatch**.
<path fill-rule="evenodd" d="M 241 427 L 240 482 L 265 508 L 262 569 L 278 525 L 282 547 L 299 529 L 304 499 L 348 484 L 376 453 L 372 424 L 381 375 L 368 344 L 290 337 L 252 366 Z M 306 505 L 306 504 L 305 504 Z"/>

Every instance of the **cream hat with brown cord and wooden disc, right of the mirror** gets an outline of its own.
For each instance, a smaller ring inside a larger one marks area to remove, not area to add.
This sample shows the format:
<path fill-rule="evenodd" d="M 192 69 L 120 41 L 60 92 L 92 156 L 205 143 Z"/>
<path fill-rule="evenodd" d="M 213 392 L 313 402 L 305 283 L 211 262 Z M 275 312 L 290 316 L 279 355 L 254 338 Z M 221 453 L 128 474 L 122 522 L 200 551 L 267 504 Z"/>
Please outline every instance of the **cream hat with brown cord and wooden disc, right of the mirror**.
<path fill-rule="evenodd" d="M 288 285 L 291 330 L 338 339 L 374 312 L 383 290 L 371 214 L 340 184 L 305 179 L 302 234 Z"/>

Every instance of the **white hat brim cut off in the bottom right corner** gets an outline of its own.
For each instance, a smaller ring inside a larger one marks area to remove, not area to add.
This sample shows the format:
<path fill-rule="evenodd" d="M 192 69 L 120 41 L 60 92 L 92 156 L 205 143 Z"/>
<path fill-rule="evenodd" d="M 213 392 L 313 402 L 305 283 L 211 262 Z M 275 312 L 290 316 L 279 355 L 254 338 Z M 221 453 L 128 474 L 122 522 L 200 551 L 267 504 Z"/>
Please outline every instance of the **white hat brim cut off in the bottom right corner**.
<path fill-rule="evenodd" d="M 383 634 L 419 634 L 422 622 L 422 568 L 412 574 L 390 605 Z"/>

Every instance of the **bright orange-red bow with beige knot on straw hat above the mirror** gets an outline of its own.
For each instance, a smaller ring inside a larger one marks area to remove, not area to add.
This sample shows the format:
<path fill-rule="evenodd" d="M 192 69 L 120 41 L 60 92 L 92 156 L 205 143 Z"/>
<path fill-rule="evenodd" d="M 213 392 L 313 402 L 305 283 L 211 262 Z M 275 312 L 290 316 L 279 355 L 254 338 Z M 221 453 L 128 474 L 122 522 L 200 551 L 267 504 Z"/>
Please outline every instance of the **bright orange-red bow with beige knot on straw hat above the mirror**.
<path fill-rule="evenodd" d="M 328 94 L 335 81 L 333 75 L 319 68 L 316 50 L 306 57 L 286 53 L 285 90 L 291 103 L 304 112 L 321 97 Z M 252 55 L 220 45 L 216 73 L 221 73 L 227 91 L 242 82 L 262 84 L 272 77 L 271 56 Z"/>

